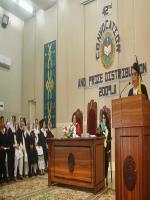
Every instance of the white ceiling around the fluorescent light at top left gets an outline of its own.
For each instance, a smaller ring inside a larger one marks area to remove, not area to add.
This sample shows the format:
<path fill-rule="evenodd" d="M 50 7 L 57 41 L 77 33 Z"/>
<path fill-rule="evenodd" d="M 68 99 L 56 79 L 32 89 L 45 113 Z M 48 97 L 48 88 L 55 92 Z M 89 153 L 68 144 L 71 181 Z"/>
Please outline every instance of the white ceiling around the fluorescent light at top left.
<path fill-rule="evenodd" d="M 40 9 L 46 10 L 52 7 L 57 0 L 25 0 L 25 1 L 27 1 L 30 5 L 34 7 L 34 14 L 35 14 Z M 14 3 L 12 0 L 0 0 L 0 6 L 24 21 L 28 20 L 34 15 L 28 13 L 26 10 L 24 10 L 19 5 Z"/>

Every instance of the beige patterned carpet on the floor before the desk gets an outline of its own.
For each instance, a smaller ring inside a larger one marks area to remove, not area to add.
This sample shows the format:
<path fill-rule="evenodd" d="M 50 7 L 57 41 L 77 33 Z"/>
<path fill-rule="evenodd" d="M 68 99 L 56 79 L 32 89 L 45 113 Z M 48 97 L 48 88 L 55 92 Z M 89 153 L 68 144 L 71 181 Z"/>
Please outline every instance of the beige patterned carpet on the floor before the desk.
<path fill-rule="evenodd" d="M 115 191 L 107 188 L 94 195 L 66 186 L 47 186 L 47 176 L 26 178 L 0 186 L 0 200 L 115 200 Z"/>

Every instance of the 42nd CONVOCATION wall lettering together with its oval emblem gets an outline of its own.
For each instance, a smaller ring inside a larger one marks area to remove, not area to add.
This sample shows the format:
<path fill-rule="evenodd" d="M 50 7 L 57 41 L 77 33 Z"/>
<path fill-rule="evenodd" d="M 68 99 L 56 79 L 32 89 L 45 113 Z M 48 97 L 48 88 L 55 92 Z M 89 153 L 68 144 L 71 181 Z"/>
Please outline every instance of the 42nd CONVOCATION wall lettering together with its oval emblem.
<path fill-rule="evenodd" d="M 98 25 L 96 35 L 96 60 L 105 69 L 115 63 L 116 54 L 121 51 L 120 35 L 113 11 L 112 0 L 98 0 Z"/>

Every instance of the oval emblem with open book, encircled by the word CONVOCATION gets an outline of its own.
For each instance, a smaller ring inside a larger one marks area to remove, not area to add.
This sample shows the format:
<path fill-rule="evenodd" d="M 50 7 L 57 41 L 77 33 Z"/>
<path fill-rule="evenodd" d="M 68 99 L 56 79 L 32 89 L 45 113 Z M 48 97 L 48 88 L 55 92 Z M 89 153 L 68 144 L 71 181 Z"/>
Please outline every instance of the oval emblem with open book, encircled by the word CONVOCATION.
<path fill-rule="evenodd" d="M 111 32 L 106 32 L 103 37 L 101 47 L 101 61 L 103 66 L 108 69 L 112 66 L 115 56 L 115 43 Z"/>

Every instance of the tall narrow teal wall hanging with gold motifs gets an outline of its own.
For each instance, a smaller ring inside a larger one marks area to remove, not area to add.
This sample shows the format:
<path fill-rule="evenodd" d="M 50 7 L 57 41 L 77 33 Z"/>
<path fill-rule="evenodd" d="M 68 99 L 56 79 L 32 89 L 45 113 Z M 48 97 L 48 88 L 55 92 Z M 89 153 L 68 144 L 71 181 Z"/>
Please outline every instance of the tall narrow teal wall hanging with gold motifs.
<path fill-rule="evenodd" d="M 56 127 L 56 41 L 44 45 L 44 118 Z"/>

